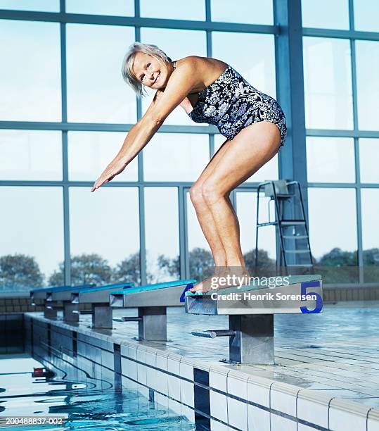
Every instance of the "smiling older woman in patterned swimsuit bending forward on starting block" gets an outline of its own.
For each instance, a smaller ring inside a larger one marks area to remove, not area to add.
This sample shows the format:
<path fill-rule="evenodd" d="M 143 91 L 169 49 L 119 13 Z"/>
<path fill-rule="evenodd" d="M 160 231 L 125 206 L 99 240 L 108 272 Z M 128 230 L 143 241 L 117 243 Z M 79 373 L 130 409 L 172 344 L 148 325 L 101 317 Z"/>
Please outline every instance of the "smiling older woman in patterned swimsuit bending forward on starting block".
<path fill-rule="evenodd" d="M 193 121 L 214 124 L 226 137 L 191 187 L 190 196 L 216 268 L 248 274 L 229 194 L 283 145 L 286 125 L 281 107 L 223 61 L 188 56 L 173 62 L 155 45 L 132 44 L 122 63 L 122 76 L 137 94 L 142 95 L 145 86 L 155 89 L 155 96 L 91 192 L 121 173 L 180 105 Z M 208 290 L 209 283 L 200 282 L 191 290 L 198 289 Z"/>

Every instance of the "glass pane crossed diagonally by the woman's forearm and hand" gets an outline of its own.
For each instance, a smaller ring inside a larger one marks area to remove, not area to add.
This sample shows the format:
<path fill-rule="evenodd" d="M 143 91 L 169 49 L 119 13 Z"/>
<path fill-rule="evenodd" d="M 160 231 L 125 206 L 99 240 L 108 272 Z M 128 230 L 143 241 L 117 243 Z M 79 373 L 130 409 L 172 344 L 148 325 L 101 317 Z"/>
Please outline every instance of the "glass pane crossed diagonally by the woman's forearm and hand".
<path fill-rule="evenodd" d="M 124 132 L 68 132 L 68 175 L 71 181 L 95 181 L 124 142 Z M 137 181 L 138 159 L 112 181 Z"/>

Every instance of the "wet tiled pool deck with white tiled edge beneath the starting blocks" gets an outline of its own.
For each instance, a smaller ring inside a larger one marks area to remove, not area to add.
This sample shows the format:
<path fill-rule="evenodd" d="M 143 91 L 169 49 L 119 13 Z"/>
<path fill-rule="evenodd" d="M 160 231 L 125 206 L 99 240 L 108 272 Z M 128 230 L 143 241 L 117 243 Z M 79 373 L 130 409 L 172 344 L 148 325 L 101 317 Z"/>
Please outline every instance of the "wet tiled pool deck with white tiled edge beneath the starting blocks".
<path fill-rule="evenodd" d="M 133 322 L 115 322 L 112 331 L 91 330 L 90 316 L 81 317 L 77 330 L 88 335 L 97 332 L 97 337 L 105 336 L 121 346 L 133 343 L 137 362 L 138 352 L 150 348 L 155 351 L 158 370 L 161 354 L 166 362 L 167 357 L 180 356 L 180 363 L 191 364 L 192 370 L 214 370 L 216 374 L 209 375 L 210 410 L 212 417 L 221 420 L 212 427 L 215 430 L 228 429 L 226 423 L 237 430 L 379 430 L 379 308 L 375 307 L 379 304 L 371 303 L 371 308 L 338 305 L 326 304 L 320 314 L 274 316 L 274 366 L 220 362 L 228 356 L 229 340 L 193 337 L 191 330 L 225 329 L 227 317 L 188 315 L 179 307 L 167 309 L 169 342 L 135 342 L 138 331 Z M 136 311 L 117 310 L 117 315 L 136 316 Z M 171 371 L 169 366 L 166 369 Z M 186 378 L 181 370 L 180 375 Z M 254 391 L 249 389 L 250 383 Z M 250 403 L 242 422 L 241 399 Z M 255 416 L 256 421 L 252 409 L 262 413 Z M 300 421 L 294 422 L 294 418 Z"/>

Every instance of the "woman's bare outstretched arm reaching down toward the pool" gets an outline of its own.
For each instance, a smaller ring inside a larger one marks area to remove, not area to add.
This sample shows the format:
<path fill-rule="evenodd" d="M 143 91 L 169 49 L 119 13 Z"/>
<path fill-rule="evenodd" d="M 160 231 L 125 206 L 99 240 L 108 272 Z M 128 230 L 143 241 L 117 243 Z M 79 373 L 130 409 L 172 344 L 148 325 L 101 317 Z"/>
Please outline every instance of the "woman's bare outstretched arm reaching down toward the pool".
<path fill-rule="evenodd" d="M 155 97 L 155 101 L 149 106 L 148 111 L 139 122 L 131 127 L 120 151 L 98 177 L 91 188 L 91 192 L 94 192 L 105 182 L 112 180 L 117 174 L 122 173 L 124 168 L 139 154 L 139 151 L 148 144 L 169 113 L 174 111 L 174 108 L 184 100 L 193 87 L 199 85 L 197 65 L 198 59 L 196 57 L 188 57 L 180 68 L 176 68 L 176 71 L 169 77 L 165 92 L 158 90 L 155 94 L 155 96 L 158 94 L 159 96 Z"/>

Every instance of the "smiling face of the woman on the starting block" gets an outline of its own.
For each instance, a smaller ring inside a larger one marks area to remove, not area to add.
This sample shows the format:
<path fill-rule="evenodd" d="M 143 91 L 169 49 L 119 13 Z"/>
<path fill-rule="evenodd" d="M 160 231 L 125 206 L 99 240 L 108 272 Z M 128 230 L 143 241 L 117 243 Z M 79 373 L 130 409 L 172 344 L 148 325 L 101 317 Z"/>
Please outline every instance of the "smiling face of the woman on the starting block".
<path fill-rule="evenodd" d="M 172 69 L 160 63 L 157 58 L 137 52 L 134 56 L 133 73 L 136 79 L 143 85 L 152 89 L 160 89 L 166 86 Z"/>

